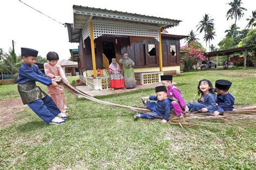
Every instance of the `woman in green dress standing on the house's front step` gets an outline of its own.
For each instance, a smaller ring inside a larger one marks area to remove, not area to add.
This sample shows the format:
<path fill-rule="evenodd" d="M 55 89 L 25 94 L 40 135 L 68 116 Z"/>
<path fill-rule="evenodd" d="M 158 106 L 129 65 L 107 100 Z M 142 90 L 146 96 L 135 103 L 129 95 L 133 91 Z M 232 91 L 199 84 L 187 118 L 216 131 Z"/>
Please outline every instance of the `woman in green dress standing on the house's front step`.
<path fill-rule="evenodd" d="M 134 62 L 125 53 L 124 57 L 119 60 L 119 63 L 123 64 L 124 83 L 126 88 L 135 88 L 136 79 L 134 76 Z"/>

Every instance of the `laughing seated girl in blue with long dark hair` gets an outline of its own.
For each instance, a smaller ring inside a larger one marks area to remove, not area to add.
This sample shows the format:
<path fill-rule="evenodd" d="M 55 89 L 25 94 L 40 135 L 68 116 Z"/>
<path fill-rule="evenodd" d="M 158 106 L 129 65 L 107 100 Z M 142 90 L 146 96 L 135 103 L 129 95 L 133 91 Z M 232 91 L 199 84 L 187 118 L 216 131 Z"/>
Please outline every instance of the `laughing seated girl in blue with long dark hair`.
<path fill-rule="evenodd" d="M 198 99 L 198 103 L 187 104 L 189 112 L 214 112 L 216 110 L 216 102 L 211 81 L 206 79 L 199 81 L 198 95 L 199 94 L 201 94 L 201 98 Z"/>

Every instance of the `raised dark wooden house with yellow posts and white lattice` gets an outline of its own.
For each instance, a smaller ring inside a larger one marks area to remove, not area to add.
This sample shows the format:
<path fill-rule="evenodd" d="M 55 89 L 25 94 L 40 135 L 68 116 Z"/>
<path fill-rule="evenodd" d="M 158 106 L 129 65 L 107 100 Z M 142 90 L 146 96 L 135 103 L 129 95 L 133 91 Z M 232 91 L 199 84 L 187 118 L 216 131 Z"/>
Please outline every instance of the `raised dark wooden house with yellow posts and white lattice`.
<path fill-rule="evenodd" d="M 118 61 L 124 53 L 135 63 L 139 84 L 159 82 L 164 73 L 180 73 L 180 39 L 187 36 L 165 29 L 181 21 L 76 5 L 73 18 L 73 24 L 66 23 L 69 42 L 79 46 L 71 56 L 78 62 L 80 79 L 93 89 L 109 87 L 108 76 L 97 77 L 97 70 L 106 69 L 112 58 Z M 100 82 L 105 84 L 96 87 Z"/>

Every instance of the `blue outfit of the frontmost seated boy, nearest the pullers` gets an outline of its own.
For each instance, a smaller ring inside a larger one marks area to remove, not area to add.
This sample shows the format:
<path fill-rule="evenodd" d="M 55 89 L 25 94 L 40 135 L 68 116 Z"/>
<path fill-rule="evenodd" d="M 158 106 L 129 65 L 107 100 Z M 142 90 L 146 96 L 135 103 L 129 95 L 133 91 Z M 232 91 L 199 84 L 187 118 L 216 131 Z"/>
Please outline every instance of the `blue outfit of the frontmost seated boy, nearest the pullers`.
<path fill-rule="evenodd" d="M 147 101 L 147 108 L 152 110 L 150 114 L 140 114 L 140 118 L 145 119 L 159 119 L 164 118 L 165 120 L 169 120 L 170 112 L 171 112 L 171 102 L 168 98 L 159 101 L 156 96 L 150 96 L 150 100 L 154 101 Z"/>

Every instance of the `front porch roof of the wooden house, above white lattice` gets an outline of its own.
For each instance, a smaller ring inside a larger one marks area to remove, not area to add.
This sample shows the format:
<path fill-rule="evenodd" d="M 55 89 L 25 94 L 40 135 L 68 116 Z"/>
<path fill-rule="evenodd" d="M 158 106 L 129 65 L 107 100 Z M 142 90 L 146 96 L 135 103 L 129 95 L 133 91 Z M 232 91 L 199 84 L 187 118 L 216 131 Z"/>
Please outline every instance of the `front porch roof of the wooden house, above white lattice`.
<path fill-rule="evenodd" d="M 83 29 L 84 25 L 91 19 L 107 19 L 111 21 L 123 21 L 159 26 L 162 29 L 179 25 L 180 20 L 140 15 L 122 11 L 113 11 L 88 6 L 73 5 L 74 28 Z"/>

